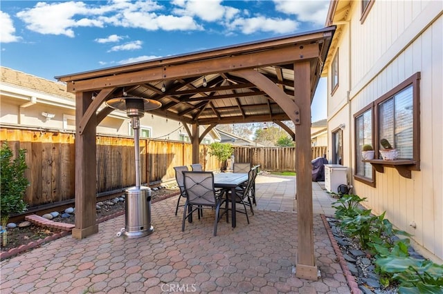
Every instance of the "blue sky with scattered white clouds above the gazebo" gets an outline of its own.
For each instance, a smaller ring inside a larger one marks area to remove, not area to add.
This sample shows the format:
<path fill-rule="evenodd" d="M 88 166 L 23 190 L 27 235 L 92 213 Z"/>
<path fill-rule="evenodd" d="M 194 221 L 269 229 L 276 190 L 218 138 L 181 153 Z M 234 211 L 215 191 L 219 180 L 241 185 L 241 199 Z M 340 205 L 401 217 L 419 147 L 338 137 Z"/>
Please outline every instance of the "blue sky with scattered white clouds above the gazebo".
<path fill-rule="evenodd" d="M 326 1 L 1 1 L 1 66 L 54 80 L 323 28 Z M 326 82 L 312 105 L 326 118 Z"/>

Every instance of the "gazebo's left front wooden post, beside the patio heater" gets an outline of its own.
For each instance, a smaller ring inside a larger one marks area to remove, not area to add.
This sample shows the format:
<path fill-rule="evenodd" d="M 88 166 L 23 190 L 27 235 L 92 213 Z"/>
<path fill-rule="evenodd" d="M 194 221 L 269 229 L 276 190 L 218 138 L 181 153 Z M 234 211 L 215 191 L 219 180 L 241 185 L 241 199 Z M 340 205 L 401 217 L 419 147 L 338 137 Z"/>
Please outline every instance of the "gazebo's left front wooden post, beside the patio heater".
<path fill-rule="evenodd" d="M 80 121 L 93 101 L 91 92 L 75 93 L 75 228 L 72 236 L 83 239 L 98 233 L 96 224 L 96 126 L 94 112 L 80 133 Z"/>

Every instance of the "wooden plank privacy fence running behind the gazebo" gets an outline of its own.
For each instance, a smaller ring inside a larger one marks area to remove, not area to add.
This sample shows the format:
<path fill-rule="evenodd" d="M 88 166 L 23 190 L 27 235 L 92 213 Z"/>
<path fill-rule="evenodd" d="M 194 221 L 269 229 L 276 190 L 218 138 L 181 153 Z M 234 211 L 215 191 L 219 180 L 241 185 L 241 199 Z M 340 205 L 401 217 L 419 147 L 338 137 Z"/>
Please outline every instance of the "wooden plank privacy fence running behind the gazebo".
<path fill-rule="evenodd" d="M 8 141 L 17 155 L 26 149 L 25 202 L 30 206 L 61 202 L 75 195 L 75 135 L 73 133 L 1 128 L 0 141 Z M 97 136 L 97 193 L 135 184 L 134 138 Z M 235 147 L 235 161 L 260 164 L 262 170 L 295 170 L 295 148 Z M 159 184 L 174 179 L 174 166 L 192 164 L 192 145 L 179 141 L 140 140 L 141 182 Z M 315 151 L 315 152 L 314 152 Z M 326 147 L 313 155 L 326 153 Z M 204 170 L 219 170 L 219 161 L 199 146 Z M 316 158 L 315 156 L 313 158 Z M 86 175 L 88 171 L 86 171 Z M 93 176 L 93 175 L 91 175 Z"/>

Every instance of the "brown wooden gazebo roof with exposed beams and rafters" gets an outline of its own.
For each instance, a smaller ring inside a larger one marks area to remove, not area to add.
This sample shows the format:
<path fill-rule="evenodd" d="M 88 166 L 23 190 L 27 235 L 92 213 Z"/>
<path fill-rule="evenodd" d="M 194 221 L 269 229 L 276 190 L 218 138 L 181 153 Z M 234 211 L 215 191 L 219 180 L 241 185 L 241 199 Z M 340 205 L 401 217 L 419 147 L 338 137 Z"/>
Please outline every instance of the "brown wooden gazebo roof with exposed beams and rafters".
<path fill-rule="evenodd" d="M 154 115 L 188 124 L 285 121 L 291 117 L 270 97 L 268 86 L 245 79 L 244 70 L 259 72 L 293 101 L 294 63 L 309 60 L 312 99 L 334 30 L 332 26 L 55 78 L 66 82 L 69 92 L 96 96 L 108 89 L 102 101 L 121 97 L 123 92 L 160 101 L 162 106 L 152 110 Z"/>

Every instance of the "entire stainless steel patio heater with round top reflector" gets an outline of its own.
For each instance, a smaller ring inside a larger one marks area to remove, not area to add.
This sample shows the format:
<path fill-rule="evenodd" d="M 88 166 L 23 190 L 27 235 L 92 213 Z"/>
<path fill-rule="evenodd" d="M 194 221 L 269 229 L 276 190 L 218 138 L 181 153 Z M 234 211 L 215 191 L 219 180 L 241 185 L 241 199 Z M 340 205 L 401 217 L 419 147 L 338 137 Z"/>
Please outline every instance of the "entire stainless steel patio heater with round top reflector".
<path fill-rule="evenodd" d="M 125 94 L 125 92 L 123 92 Z M 151 225 L 151 188 L 141 186 L 140 181 L 140 118 L 145 111 L 159 108 L 161 103 L 141 97 L 119 97 L 106 102 L 107 106 L 118 110 L 126 110 L 131 118 L 134 130 L 136 186 L 125 190 L 125 228 L 121 230 L 129 238 L 150 235 L 154 231 Z M 121 234 L 120 232 L 117 235 Z"/>

